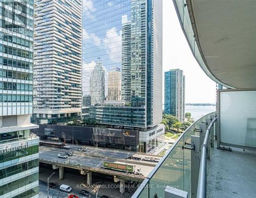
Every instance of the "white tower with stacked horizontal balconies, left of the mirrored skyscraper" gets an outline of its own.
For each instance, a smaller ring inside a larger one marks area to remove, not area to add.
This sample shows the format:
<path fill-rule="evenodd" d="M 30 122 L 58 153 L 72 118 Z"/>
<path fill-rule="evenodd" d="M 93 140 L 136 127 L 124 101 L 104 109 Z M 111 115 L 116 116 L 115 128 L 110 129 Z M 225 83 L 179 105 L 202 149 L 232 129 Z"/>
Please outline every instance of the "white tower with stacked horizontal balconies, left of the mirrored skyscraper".
<path fill-rule="evenodd" d="M 35 4 L 33 122 L 68 122 L 81 112 L 81 0 Z"/>

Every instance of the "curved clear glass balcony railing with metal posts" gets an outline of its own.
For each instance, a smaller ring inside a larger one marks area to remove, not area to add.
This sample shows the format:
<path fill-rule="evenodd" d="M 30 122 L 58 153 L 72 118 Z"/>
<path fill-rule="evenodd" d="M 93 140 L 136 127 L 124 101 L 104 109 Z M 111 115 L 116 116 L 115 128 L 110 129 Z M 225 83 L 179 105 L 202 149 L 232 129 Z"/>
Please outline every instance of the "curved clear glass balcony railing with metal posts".
<path fill-rule="evenodd" d="M 207 150 L 214 142 L 216 120 L 216 112 L 212 112 L 190 125 L 141 183 L 132 198 L 172 197 L 166 196 L 168 189 L 178 189 L 180 192 L 187 193 L 184 197 L 196 197 L 198 184 L 200 184 L 201 193 L 201 189 L 206 188 L 206 183 L 203 182 L 206 176 L 204 175 L 205 162 Z M 203 145 L 203 152 L 200 151 L 201 145 Z M 203 161 L 201 167 L 200 158 Z M 201 183 L 198 183 L 199 172 L 203 177 L 203 181 L 200 179 Z"/>

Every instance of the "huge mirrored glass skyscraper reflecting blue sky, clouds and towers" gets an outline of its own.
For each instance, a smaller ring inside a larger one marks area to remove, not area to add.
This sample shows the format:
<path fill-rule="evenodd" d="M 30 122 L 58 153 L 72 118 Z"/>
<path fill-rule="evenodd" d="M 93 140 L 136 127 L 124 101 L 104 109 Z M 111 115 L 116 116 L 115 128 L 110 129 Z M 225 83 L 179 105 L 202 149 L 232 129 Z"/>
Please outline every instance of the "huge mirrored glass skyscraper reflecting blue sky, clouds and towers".
<path fill-rule="evenodd" d="M 104 75 L 112 75 L 104 76 L 103 101 L 92 101 L 90 117 L 102 124 L 156 126 L 162 121 L 162 1 L 86 1 L 82 7 L 83 94 L 93 100 L 98 91 L 90 77 L 99 63 Z M 120 68 L 121 77 L 112 68 Z M 109 95 L 112 85 L 121 88 L 120 96 Z"/>

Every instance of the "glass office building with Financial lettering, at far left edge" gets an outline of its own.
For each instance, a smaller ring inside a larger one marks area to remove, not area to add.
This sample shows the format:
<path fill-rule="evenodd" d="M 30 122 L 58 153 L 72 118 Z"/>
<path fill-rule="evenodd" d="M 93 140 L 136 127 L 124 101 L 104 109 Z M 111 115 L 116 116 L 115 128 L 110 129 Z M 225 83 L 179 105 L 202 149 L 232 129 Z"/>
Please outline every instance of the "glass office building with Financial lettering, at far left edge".
<path fill-rule="evenodd" d="M 34 1 L 1 1 L 1 197 L 38 197 L 38 143 L 33 112 Z"/>

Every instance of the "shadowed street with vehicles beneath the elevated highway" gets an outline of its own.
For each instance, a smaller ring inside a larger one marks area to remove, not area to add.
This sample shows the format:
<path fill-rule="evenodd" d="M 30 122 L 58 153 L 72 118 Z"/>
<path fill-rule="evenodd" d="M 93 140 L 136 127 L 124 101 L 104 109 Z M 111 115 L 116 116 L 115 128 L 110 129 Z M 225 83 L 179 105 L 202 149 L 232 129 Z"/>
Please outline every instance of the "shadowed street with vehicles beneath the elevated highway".
<path fill-rule="evenodd" d="M 39 169 L 39 197 L 47 197 L 47 177 L 49 177 L 54 170 L 51 169 L 51 166 L 41 166 Z M 114 197 L 120 197 L 119 192 L 119 183 L 115 183 L 113 177 L 108 175 L 101 175 L 101 174 L 93 174 L 92 175 L 92 185 L 87 186 L 86 185 L 86 176 L 81 175 L 77 170 L 72 169 L 66 169 L 65 170 L 65 177 L 63 180 L 59 180 L 58 174 L 53 174 L 50 182 L 57 185 L 56 188 L 49 190 L 49 197 L 52 198 L 52 195 L 55 194 L 57 198 L 67 197 L 69 194 L 75 194 L 78 195 L 79 198 L 82 198 L 83 196 L 79 195 L 79 191 L 81 189 L 86 189 L 91 193 L 91 197 L 96 197 L 96 193 L 98 191 L 98 197 L 101 197 L 102 195 L 108 195 L 111 198 Z M 59 191 L 59 186 L 61 184 L 66 184 L 72 187 L 71 193 L 61 192 Z M 132 194 L 136 191 L 137 185 L 130 186 L 129 191 L 123 194 L 123 197 L 131 197 Z M 98 188 L 99 187 L 99 188 Z M 99 189 L 99 190 L 98 190 Z"/>

